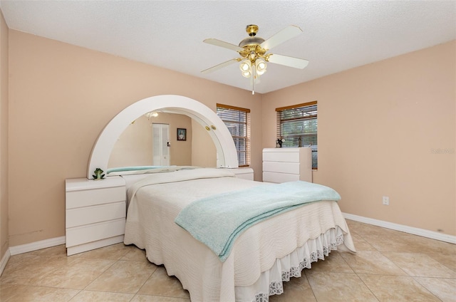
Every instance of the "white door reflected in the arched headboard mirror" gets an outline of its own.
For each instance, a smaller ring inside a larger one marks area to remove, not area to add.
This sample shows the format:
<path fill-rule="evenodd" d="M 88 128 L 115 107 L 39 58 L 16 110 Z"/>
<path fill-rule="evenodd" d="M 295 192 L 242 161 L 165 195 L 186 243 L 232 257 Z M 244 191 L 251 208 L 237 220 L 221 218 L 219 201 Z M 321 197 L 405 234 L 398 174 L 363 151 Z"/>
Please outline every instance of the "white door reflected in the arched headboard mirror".
<path fill-rule="evenodd" d="M 152 124 L 152 154 L 154 166 L 170 165 L 170 125 Z"/>

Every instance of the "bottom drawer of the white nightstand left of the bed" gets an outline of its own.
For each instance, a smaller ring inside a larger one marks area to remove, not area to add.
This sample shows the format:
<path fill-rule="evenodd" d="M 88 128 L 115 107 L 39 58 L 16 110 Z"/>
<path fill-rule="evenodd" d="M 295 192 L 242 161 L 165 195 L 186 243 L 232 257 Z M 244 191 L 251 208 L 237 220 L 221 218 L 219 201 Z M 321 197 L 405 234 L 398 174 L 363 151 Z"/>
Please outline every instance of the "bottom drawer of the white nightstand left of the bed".
<path fill-rule="evenodd" d="M 123 234 L 125 234 L 125 218 L 72 227 L 66 229 L 66 246 L 76 246 Z"/>

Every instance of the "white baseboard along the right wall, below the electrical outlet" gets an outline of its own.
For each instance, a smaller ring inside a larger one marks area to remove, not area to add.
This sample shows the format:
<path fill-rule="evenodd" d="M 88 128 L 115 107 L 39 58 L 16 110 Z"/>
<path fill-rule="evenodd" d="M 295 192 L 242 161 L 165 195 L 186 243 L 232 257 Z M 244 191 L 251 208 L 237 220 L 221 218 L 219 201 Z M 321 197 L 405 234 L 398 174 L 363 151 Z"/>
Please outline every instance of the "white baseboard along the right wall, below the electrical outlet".
<path fill-rule="evenodd" d="M 373 224 L 377 227 L 385 227 L 387 229 L 394 229 L 395 231 L 403 231 L 408 234 L 423 236 L 430 239 L 436 239 L 440 241 L 450 242 L 450 244 L 456 244 L 456 236 L 442 234 L 437 231 L 429 231 L 427 229 L 418 229 L 416 227 L 408 227 L 403 224 L 395 224 L 393 222 L 384 222 L 383 220 L 362 217 L 358 215 L 343 213 L 343 217 L 346 219 L 354 220 L 356 222 L 363 222 L 365 224 Z"/>

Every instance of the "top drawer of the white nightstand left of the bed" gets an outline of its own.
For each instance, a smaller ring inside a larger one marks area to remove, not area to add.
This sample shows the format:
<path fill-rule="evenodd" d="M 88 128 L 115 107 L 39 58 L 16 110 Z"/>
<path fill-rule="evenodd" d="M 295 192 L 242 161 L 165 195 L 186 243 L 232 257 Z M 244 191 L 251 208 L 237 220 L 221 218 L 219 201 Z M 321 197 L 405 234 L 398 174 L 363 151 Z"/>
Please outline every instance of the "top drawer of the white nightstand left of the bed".
<path fill-rule="evenodd" d="M 109 204 L 125 200 L 125 187 L 107 187 L 66 192 L 66 209 Z"/>

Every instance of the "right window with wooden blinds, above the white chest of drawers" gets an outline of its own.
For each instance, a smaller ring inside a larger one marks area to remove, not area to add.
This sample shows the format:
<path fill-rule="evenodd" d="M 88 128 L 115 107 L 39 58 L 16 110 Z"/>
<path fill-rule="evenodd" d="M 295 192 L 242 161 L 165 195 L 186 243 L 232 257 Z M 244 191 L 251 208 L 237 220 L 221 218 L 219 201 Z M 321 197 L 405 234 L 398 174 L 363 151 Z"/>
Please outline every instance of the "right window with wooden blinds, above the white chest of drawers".
<path fill-rule="evenodd" d="M 316 101 L 276 108 L 277 138 L 284 140 L 282 147 L 307 147 L 312 149 L 312 168 L 318 167 Z"/>

